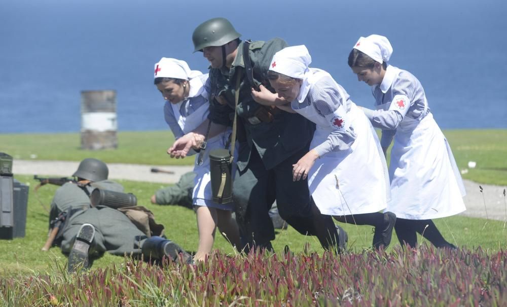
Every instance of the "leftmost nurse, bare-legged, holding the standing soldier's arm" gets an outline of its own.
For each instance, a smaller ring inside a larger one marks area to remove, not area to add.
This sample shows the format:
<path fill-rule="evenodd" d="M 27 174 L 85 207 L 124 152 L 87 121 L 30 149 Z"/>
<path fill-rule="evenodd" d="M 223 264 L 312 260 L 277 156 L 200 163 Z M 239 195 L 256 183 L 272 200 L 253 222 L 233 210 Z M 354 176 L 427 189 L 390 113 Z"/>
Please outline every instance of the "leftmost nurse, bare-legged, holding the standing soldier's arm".
<path fill-rule="evenodd" d="M 176 139 L 200 125 L 208 126 L 208 91 L 204 86 L 208 74 L 191 71 L 185 61 L 164 57 L 155 64 L 154 77 L 157 89 L 166 100 L 165 121 Z M 216 131 L 220 128 L 216 125 L 213 127 L 216 133 L 207 140 L 206 150 L 201 150 L 200 156 L 196 155 L 195 159 L 193 205 L 197 214 L 199 231 L 196 260 L 204 260 L 205 256 L 211 252 L 216 227 L 221 233 L 225 233 L 226 239 L 232 245 L 239 246 L 240 243 L 238 226 L 231 215 L 234 209 L 233 204 L 220 204 L 211 200 L 209 151 L 225 148 L 231 131 L 223 128 L 222 132 L 218 133 Z"/>

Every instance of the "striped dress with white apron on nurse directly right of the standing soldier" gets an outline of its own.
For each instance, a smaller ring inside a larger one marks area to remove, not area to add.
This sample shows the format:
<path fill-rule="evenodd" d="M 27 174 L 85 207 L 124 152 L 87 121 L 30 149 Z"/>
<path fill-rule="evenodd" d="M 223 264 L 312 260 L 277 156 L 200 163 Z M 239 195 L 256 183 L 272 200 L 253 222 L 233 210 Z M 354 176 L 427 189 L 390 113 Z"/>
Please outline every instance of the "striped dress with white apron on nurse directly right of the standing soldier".
<path fill-rule="evenodd" d="M 389 178 L 377 134 L 330 74 L 310 69 L 294 111 L 316 124 L 310 145 L 319 159 L 308 174 L 310 194 L 322 214 L 343 216 L 385 209 Z"/>

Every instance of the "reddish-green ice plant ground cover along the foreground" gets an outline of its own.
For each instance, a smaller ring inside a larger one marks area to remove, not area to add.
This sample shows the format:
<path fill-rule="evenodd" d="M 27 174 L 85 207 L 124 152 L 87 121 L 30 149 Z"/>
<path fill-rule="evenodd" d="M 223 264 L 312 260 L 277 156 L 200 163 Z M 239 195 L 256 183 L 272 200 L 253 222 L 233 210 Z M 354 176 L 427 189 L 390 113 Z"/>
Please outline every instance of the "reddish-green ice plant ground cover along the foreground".
<path fill-rule="evenodd" d="M 196 265 L 123 265 L 4 278 L 2 306 L 501 306 L 507 252 L 211 255 Z M 57 269 L 58 270 L 58 269 Z"/>

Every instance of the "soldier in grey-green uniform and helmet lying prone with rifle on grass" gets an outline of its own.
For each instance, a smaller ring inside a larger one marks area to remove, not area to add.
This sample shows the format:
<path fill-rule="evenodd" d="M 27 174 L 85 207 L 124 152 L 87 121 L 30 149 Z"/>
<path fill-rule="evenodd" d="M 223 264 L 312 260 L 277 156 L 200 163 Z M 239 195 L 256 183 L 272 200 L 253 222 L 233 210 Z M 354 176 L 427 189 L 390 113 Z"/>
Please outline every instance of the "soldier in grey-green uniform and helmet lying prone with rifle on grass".
<path fill-rule="evenodd" d="M 99 257 L 104 252 L 134 257 L 143 254 L 153 259 L 162 256 L 175 259 L 183 253 L 184 258 L 192 260 L 177 244 L 160 236 L 148 237 L 124 213 L 105 206 L 91 206 L 90 195 L 96 188 L 115 192 L 124 190 L 119 183 L 107 180 L 105 163 L 93 158 L 84 159 L 73 176 L 78 177 L 80 183 L 81 180 L 91 182 L 85 186 L 70 182 L 62 185 L 56 190 L 50 212 L 50 222 L 60 213 L 66 213 L 63 227 L 60 226 L 53 244 L 59 245 L 63 253 L 70 253 L 69 271 L 79 266 L 79 262 L 88 265 L 88 258 Z M 87 231 L 89 236 L 83 235 Z"/>

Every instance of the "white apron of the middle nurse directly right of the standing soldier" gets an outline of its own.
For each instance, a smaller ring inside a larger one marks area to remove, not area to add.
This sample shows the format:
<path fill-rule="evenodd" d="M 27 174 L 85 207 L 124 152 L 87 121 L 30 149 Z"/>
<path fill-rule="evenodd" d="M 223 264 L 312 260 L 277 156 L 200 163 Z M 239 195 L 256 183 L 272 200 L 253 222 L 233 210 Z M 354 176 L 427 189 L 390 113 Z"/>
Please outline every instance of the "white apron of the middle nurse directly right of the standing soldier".
<path fill-rule="evenodd" d="M 328 121 L 311 104 L 295 111 L 317 125 L 310 148 L 322 144 L 332 131 Z M 389 183 L 377 135 L 355 104 L 347 115 L 356 140 L 348 150 L 317 159 L 308 174 L 310 194 L 325 215 L 372 213 L 387 207 Z"/>

